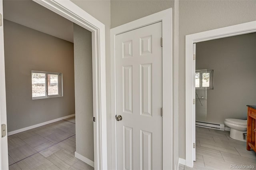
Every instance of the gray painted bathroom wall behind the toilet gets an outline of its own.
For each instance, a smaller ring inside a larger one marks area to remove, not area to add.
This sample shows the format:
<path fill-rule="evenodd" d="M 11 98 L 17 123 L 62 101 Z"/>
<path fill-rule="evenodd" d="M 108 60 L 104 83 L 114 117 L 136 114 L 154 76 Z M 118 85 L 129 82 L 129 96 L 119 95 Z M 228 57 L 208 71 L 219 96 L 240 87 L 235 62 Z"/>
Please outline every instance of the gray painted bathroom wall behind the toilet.
<path fill-rule="evenodd" d="M 214 70 L 207 90 L 207 122 L 247 119 L 256 105 L 256 33 L 196 43 L 196 69 Z"/>

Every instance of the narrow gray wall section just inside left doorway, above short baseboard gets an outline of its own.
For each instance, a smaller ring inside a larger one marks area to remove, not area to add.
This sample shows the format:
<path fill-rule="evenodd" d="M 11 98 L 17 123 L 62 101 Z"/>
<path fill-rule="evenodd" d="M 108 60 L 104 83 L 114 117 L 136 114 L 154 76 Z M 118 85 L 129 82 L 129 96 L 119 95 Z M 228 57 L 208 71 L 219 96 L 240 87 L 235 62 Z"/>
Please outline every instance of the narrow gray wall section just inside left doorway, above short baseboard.
<path fill-rule="evenodd" d="M 76 152 L 94 161 L 92 33 L 74 24 Z"/>

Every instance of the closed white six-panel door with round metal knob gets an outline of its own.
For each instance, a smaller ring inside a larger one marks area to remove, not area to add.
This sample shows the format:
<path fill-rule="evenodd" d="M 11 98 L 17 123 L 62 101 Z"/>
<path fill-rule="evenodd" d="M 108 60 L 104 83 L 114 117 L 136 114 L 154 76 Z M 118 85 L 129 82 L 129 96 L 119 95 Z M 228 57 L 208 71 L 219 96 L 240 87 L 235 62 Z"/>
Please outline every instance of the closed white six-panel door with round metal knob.
<path fill-rule="evenodd" d="M 162 22 L 116 36 L 118 170 L 162 169 Z"/>

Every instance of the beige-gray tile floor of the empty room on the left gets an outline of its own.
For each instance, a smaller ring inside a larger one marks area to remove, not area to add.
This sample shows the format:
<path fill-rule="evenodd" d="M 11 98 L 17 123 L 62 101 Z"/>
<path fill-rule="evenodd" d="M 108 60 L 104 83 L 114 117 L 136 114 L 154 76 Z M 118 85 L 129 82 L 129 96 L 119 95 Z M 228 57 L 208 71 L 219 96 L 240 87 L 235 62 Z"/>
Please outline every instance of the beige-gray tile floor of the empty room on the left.
<path fill-rule="evenodd" d="M 93 170 L 74 157 L 75 117 L 8 136 L 9 170 Z"/>

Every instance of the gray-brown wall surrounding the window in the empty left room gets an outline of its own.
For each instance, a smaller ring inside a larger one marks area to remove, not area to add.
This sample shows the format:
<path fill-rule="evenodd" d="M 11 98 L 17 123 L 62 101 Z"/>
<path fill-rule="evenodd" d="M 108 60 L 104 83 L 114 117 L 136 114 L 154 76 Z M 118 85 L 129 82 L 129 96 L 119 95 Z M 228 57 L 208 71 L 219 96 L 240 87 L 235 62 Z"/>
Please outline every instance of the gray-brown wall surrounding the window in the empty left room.
<path fill-rule="evenodd" d="M 75 113 L 73 43 L 4 20 L 8 132 Z M 31 70 L 63 73 L 63 97 L 32 100 Z"/>

